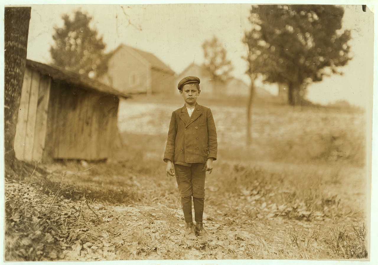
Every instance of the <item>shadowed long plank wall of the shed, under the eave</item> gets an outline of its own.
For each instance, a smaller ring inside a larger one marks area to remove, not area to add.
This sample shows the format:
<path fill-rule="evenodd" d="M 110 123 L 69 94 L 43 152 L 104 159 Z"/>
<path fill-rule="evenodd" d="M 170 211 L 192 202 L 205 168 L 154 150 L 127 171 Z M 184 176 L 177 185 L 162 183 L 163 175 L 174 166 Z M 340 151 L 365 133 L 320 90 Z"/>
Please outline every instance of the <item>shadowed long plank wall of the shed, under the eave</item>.
<path fill-rule="evenodd" d="M 46 155 L 53 159 L 107 159 L 116 135 L 118 102 L 116 96 L 54 82 Z"/>

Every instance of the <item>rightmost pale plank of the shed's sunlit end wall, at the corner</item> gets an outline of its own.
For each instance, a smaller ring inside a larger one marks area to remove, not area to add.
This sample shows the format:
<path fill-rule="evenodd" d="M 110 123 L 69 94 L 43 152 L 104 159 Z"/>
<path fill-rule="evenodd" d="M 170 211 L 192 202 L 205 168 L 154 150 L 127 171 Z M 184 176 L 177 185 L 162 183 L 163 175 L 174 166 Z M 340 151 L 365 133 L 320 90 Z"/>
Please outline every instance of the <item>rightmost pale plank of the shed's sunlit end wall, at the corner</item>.
<path fill-rule="evenodd" d="M 47 111 L 50 97 L 51 78 L 42 76 L 39 82 L 36 129 L 34 134 L 33 160 L 42 158 L 45 148 Z"/>

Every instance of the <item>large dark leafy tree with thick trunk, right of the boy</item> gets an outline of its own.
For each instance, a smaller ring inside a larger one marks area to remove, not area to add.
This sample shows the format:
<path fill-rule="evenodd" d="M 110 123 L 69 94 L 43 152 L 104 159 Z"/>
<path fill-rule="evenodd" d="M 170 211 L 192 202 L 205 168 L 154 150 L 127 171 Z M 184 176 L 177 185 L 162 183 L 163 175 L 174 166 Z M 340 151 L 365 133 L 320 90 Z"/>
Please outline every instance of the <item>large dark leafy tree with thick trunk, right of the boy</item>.
<path fill-rule="evenodd" d="M 342 74 L 350 31 L 341 32 L 344 9 L 335 5 L 258 5 L 251 8 L 247 73 L 288 86 L 291 105 L 301 102 L 308 83 Z"/>

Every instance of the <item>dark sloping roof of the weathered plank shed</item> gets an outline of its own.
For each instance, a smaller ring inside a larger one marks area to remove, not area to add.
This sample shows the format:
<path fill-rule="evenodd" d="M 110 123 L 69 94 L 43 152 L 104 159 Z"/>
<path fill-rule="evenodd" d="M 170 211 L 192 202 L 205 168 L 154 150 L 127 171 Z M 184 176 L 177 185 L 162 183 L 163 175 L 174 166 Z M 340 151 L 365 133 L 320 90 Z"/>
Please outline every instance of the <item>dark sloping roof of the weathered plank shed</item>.
<path fill-rule="evenodd" d="M 54 80 L 61 80 L 73 85 L 79 85 L 82 88 L 89 90 L 96 90 L 107 94 L 112 94 L 125 99 L 130 98 L 130 94 L 122 93 L 111 86 L 107 86 L 89 77 L 82 76 L 81 74 L 67 70 L 57 65 L 46 65 L 32 60 L 26 60 L 26 65 L 36 69 L 41 74 L 49 75 Z"/>

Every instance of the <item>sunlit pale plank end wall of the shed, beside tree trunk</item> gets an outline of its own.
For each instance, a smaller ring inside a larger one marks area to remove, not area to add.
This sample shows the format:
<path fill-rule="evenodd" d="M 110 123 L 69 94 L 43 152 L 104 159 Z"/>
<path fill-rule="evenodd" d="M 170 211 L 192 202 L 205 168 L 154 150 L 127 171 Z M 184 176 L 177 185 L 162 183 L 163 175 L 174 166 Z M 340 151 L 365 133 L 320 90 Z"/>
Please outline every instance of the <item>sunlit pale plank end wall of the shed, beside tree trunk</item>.
<path fill-rule="evenodd" d="M 45 147 L 51 78 L 25 69 L 14 151 L 17 159 L 38 161 Z"/>

